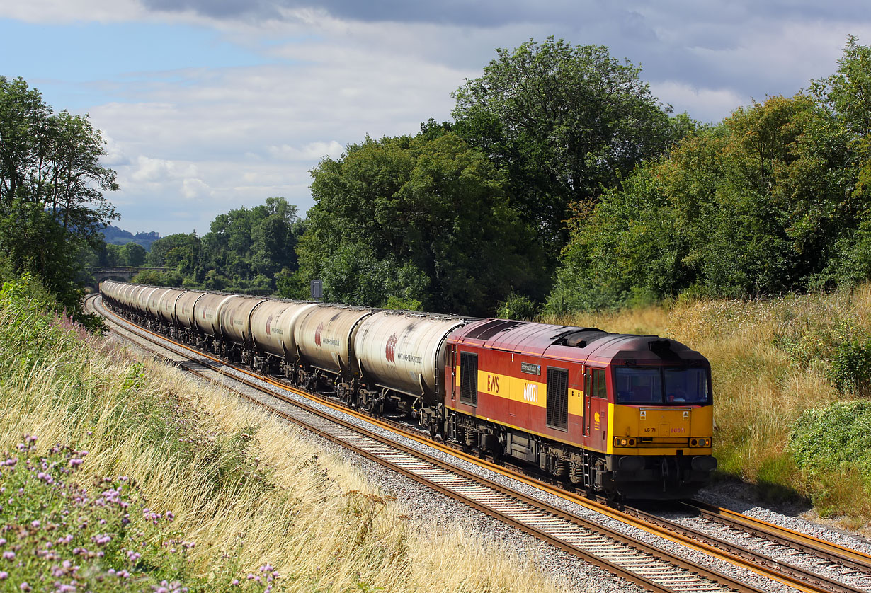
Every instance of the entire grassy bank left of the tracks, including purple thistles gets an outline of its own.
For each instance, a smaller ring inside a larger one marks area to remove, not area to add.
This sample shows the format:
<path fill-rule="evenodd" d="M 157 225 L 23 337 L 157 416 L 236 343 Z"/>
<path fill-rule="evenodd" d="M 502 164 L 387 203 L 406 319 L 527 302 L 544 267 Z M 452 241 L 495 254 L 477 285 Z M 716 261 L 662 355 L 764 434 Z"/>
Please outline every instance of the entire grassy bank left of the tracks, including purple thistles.
<path fill-rule="evenodd" d="M 0 293 L 0 589 L 557 590 L 294 428 Z"/>

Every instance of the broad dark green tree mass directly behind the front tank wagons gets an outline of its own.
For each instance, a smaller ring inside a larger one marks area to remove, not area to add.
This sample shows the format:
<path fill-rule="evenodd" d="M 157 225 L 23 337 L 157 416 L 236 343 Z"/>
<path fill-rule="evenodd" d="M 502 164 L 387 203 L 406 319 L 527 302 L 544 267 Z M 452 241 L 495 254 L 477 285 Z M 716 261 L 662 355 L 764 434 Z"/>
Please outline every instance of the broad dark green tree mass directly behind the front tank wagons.
<path fill-rule="evenodd" d="M 489 313 L 512 289 L 535 292 L 534 232 L 507 203 L 490 162 L 452 132 L 367 138 L 313 171 L 300 280 L 324 299 Z"/>

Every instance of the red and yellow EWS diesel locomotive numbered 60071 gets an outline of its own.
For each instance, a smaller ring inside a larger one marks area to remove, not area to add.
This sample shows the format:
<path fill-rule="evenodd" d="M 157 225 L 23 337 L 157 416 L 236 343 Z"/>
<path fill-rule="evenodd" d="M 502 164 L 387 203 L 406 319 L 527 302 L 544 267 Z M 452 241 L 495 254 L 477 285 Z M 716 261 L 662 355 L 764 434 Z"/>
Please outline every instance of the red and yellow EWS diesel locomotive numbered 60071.
<path fill-rule="evenodd" d="M 448 337 L 449 439 L 587 490 L 692 495 L 717 467 L 711 371 L 657 336 L 481 320 Z"/>

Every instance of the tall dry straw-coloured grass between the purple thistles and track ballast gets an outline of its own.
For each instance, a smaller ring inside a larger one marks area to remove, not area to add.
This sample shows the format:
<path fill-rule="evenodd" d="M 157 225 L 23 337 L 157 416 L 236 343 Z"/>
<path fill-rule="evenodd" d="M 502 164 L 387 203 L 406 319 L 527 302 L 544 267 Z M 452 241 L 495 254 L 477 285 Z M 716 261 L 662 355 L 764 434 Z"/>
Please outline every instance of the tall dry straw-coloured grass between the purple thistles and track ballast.
<path fill-rule="evenodd" d="M 520 558 L 450 525 L 416 527 L 414 509 L 226 391 L 109 343 L 66 336 L 51 347 L 57 328 L 34 332 L 3 337 L 0 447 L 37 435 L 40 446 L 86 448 L 86 475 L 131 476 L 149 507 L 176 516 L 179 540 L 196 542 L 186 562 L 206 590 L 265 563 L 291 591 L 561 589 L 531 551 Z"/>

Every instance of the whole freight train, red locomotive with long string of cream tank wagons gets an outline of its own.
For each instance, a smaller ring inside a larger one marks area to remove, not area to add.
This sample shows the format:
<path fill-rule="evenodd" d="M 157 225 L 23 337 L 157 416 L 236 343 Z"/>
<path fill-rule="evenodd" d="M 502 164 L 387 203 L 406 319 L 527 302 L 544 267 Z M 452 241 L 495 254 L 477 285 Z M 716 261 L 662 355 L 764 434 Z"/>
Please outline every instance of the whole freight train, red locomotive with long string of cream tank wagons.
<path fill-rule="evenodd" d="M 612 500 L 692 497 L 717 468 L 711 366 L 676 340 L 107 280 L 192 347 Z"/>

